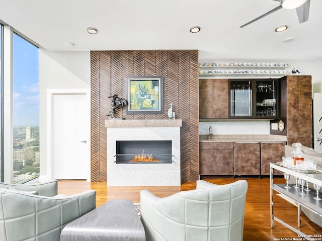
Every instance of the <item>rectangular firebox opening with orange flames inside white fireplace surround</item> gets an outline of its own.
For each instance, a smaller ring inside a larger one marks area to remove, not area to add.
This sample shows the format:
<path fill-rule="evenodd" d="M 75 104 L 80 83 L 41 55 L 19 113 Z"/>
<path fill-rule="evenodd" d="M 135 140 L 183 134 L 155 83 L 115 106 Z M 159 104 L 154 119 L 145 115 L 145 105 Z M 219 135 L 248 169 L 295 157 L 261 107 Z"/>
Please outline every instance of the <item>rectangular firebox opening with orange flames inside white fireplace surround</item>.
<path fill-rule="evenodd" d="M 116 141 L 116 163 L 172 163 L 172 141 Z"/>

